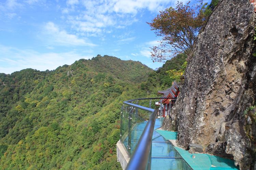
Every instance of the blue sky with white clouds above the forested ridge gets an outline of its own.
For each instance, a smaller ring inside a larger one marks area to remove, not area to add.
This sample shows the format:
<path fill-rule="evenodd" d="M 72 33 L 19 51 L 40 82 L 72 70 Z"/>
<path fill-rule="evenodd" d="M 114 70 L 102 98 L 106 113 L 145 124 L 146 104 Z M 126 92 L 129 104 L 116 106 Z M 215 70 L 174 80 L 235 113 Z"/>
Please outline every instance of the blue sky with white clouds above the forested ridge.
<path fill-rule="evenodd" d="M 149 48 L 159 37 L 146 22 L 176 2 L 0 0 L 0 73 L 53 70 L 97 54 L 161 67 Z"/>

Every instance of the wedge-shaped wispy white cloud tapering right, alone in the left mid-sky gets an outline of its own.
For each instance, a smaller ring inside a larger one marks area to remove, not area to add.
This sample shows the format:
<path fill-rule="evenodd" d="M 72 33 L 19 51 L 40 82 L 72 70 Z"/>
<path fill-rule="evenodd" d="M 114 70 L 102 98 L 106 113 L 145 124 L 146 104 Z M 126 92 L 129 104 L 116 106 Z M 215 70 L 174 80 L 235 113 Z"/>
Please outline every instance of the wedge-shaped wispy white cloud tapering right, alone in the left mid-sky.
<path fill-rule="evenodd" d="M 43 29 L 43 36 L 46 41 L 55 46 L 96 46 L 88 39 L 82 39 L 65 30 L 60 30 L 53 22 L 47 22 Z"/>

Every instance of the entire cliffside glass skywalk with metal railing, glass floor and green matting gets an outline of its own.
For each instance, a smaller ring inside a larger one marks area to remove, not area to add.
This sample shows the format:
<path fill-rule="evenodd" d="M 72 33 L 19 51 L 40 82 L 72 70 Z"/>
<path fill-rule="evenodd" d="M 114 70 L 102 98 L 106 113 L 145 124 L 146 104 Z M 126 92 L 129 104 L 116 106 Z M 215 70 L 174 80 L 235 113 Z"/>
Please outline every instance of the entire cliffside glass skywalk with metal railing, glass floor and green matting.
<path fill-rule="evenodd" d="M 131 158 L 126 169 L 238 169 L 233 160 L 204 153 L 190 154 L 174 147 L 172 142 L 177 139 L 177 133 L 159 130 L 164 118 L 157 118 L 158 108 L 151 108 L 151 102 L 149 108 L 138 105 L 144 100 L 148 99 L 126 101 L 121 108 L 120 141 Z M 137 103 L 133 104 L 133 101 Z"/>

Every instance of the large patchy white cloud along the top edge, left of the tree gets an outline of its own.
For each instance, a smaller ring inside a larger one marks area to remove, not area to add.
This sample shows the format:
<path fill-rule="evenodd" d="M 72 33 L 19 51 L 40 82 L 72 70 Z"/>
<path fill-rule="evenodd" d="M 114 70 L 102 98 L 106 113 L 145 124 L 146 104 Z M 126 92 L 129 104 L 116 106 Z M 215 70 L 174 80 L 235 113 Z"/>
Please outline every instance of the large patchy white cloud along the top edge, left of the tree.
<path fill-rule="evenodd" d="M 67 22 L 78 33 L 87 36 L 102 36 L 109 29 L 124 29 L 139 20 L 136 14 L 148 10 L 158 12 L 177 0 L 67 0 L 62 13 Z M 183 0 L 187 1 L 187 0 Z M 80 4 L 80 5 L 75 5 Z M 85 9 L 84 9 L 85 7 Z M 72 13 L 71 13 L 72 11 Z M 77 13 L 76 13 L 77 12 Z"/>

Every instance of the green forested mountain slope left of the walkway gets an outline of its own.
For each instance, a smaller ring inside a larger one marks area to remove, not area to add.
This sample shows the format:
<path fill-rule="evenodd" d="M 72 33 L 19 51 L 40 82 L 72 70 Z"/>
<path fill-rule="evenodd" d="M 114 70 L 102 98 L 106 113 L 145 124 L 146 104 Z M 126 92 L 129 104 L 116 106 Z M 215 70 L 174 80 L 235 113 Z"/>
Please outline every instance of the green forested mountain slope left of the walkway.
<path fill-rule="evenodd" d="M 171 65 L 153 71 L 98 55 L 53 71 L 0 73 L 0 169 L 120 169 L 122 102 L 156 97 L 173 81 Z"/>

